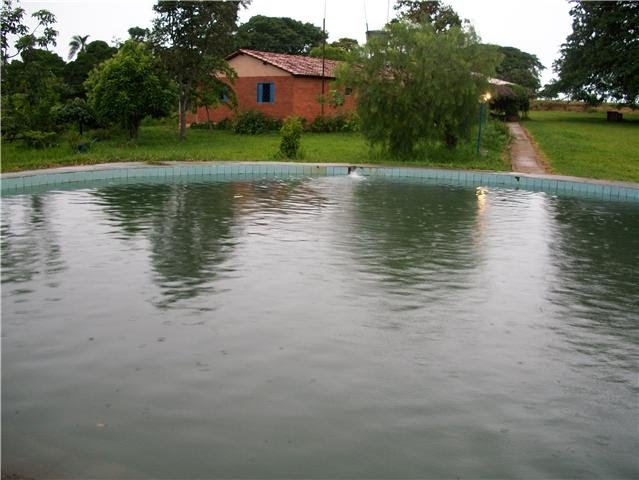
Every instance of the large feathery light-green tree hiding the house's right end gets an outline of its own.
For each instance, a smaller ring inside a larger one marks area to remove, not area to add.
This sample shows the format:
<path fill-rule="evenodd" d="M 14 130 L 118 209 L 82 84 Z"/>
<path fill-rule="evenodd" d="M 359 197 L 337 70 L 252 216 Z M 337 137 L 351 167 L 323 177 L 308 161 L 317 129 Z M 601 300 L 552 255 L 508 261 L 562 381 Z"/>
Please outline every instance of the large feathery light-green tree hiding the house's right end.
<path fill-rule="evenodd" d="M 396 22 L 354 52 L 340 82 L 357 91 L 362 132 L 397 157 L 422 141 L 468 138 L 498 58 L 474 32 Z"/>

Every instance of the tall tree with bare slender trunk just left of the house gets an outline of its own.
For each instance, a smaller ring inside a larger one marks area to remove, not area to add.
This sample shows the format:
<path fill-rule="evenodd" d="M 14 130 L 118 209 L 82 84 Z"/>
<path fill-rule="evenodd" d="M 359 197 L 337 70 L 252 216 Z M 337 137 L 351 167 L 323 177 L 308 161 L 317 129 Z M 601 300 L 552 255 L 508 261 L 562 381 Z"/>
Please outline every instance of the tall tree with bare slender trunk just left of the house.
<path fill-rule="evenodd" d="M 186 112 L 200 84 L 224 71 L 233 46 L 239 2 L 161 1 L 153 9 L 151 42 L 178 87 L 180 140 L 186 137 Z"/>

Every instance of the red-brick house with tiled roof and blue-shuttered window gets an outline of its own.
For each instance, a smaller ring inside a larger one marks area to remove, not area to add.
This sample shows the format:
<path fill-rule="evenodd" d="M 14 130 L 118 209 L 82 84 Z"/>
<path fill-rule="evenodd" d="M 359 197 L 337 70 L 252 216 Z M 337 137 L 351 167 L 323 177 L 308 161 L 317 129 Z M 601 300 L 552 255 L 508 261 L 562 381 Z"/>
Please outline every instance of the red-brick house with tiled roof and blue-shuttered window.
<path fill-rule="evenodd" d="M 321 58 L 241 49 L 226 60 L 237 73 L 231 88 L 237 96 L 238 111 L 257 110 L 277 118 L 296 115 L 309 122 L 322 114 L 322 83 L 325 98 L 328 98 L 329 92 L 335 89 L 332 84 L 340 63 L 325 60 L 322 77 Z M 343 104 L 340 106 L 324 103 L 325 116 L 354 111 L 352 90 L 342 90 L 341 95 Z M 188 114 L 187 123 L 219 122 L 235 113 L 225 104 L 209 108 L 208 113 L 201 107 L 196 113 Z"/>

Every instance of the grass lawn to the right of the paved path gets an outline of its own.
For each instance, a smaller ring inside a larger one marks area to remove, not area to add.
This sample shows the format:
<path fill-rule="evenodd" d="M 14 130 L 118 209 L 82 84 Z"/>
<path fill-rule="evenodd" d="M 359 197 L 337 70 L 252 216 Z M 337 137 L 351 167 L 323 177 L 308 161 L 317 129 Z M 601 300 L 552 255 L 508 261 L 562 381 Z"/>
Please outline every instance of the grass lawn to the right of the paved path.
<path fill-rule="evenodd" d="M 553 173 L 639 182 L 639 112 L 607 122 L 605 112 L 530 112 L 522 122 Z"/>

